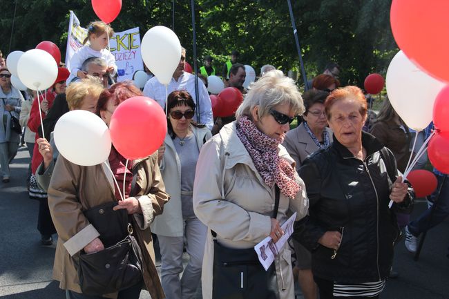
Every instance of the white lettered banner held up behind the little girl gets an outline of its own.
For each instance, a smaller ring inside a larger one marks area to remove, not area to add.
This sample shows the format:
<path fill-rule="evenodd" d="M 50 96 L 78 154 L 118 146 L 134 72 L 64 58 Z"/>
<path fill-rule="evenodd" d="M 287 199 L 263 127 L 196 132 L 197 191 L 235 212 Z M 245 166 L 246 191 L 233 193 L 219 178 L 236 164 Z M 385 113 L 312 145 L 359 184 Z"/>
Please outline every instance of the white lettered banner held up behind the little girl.
<path fill-rule="evenodd" d="M 83 46 L 83 41 L 87 37 L 87 29 L 79 24 L 77 16 L 70 11 L 70 22 L 68 25 L 66 68 L 70 70 L 70 59 L 73 54 Z M 133 74 L 137 70 L 143 70 L 142 55 L 140 54 L 140 33 L 139 27 L 128 29 L 122 32 L 115 32 L 109 41 L 111 53 L 115 55 L 117 64 L 118 79 L 123 81 L 133 79 Z"/>

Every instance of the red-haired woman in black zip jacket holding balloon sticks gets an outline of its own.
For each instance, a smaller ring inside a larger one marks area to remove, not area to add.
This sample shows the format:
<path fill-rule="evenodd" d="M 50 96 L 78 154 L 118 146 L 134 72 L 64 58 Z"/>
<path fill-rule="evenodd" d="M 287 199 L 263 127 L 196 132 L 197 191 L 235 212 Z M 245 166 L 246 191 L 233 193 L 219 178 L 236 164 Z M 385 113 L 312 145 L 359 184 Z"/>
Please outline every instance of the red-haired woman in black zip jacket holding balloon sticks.
<path fill-rule="evenodd" d="M 294 238 L 312 251 L 321 299 L 378 298 L 399 235 L 394 210 L 410 204 L 408 185 L 392 153 L 362 132 L 367 104 L 359 88 L 334 90 L 325 112 L 334 144 L 308 157 L 298 171 L 310 205 Z"/>

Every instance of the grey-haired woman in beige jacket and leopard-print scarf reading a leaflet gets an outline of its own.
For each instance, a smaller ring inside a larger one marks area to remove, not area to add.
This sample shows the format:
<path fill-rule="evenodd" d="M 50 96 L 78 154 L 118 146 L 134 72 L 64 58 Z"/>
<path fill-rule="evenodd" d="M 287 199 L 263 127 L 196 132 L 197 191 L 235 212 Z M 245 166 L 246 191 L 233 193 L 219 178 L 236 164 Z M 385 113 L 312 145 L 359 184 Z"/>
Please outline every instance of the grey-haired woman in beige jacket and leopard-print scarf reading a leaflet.
<path fill-rule="evenodd" d="M 288 216 L 297 212 L 299 220 L 307 213 L 303 180 L 281 145 L 289 123 L 303 111 L 292 79 L 262 77 L 245 96 L 236 121 L 202 147 L 193 209 L 209 228 L 203 298 L 294 298 L 288 246 L 267 271 L 254 246 L 268 236 L 278 242 Z"/>

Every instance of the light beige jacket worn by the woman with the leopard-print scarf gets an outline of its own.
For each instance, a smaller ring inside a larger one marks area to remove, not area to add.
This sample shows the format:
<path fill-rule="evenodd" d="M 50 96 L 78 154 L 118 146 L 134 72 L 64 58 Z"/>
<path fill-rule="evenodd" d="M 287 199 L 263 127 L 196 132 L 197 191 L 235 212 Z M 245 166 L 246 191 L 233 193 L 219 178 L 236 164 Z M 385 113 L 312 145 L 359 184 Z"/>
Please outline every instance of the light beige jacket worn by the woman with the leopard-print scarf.
<path fill-rule="evenodd" d="M 294 164 L 283 146 L 279 146 L 279 155 Z M 302 187 L 296 198 L 289 199 L 280 193 L 277 217 L 280 224 L 295 211 L 298 213 L 296 220 L 307 213 L 307 193 L 298 175 L 296 182 Z M 193 188 L 195 214 L 209 227 L 202 266 L 204 299 L 212 298 L 213 239 L 210 229 L 216 231 L 218 242 L 225 247 L 254 247 L 271 232 L 274 193 L 274 186 L 269 188 L 263 182 L 245 146 L 240 142 L 236 134 L 236 122 L 224 126 L 218 135 L 204 144 Z M 294 298 L 291 263 L 291 252 L 286 246 L 275 260 L 281 299 Z"/>

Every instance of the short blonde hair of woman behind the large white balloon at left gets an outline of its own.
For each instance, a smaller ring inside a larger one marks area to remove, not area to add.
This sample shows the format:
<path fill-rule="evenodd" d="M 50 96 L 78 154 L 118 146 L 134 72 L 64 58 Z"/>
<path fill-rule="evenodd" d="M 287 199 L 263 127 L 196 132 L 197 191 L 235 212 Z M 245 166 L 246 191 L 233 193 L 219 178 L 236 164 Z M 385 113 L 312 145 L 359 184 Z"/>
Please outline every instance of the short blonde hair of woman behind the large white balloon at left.
<path fill-rule="evenodd" d="M 87 76 L 86 79 L 75 81 L 66 89 L 66 99 L 70 110 L 79 109 L 87 95 L 98 98 L 104 87 L 97 77 Z"/>

